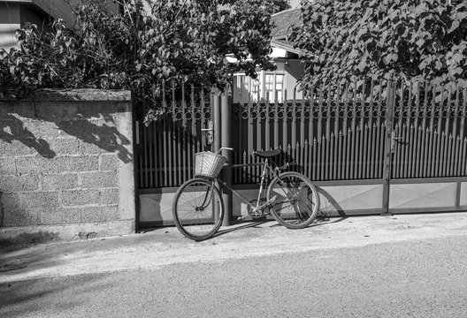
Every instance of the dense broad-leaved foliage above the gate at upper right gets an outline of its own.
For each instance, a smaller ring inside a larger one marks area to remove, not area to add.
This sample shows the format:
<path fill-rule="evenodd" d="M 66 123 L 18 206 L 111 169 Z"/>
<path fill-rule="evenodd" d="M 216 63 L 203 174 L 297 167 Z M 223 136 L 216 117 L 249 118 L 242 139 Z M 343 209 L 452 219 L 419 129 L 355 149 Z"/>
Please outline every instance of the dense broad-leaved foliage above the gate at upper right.
<path fill-rule="evenodd" d="M 369 77 L 467 84 L 464 0 L 317 0 L 302 15 L 289 39 L 305 52 L 305 89 Z"/>

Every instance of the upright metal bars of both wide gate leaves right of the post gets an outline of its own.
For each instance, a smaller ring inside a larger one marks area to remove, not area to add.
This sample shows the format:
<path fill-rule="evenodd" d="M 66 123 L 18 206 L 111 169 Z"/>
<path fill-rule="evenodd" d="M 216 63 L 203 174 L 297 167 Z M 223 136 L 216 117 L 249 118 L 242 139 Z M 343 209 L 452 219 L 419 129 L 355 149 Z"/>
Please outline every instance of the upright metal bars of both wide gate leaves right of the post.
<path fill-rule="evenodd" d="M 444 98 L 442 87 L 399 83 L 391 139 L 387 87 L 332 88 L 318 87 L 306 99 L 292 96 L 285 103 L 234 104 L 234 163 L 256 163 L 253 151 L 279 147 L 312 180 L 376 179 L 383 178 L 390 142 L 391 178 L 466 175 L 465 88 Z M 255 183 L 255 175 L 251 168 L 238 169 L 234 184 Z"/>

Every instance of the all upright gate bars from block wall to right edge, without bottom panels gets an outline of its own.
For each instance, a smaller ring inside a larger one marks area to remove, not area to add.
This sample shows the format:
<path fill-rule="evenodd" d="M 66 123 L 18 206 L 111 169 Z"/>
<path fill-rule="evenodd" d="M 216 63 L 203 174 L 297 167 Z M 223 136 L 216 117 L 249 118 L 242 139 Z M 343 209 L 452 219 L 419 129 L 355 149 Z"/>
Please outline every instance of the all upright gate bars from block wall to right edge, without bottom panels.
<path fill-rule="evenodd" d="M 389 143 L 391 178 L 467 176 L 467 89 L 397 83 L 391 100 L 386 88 L 345 83 L 318 87 L 300 100 L 285 92 L 287 102 L 234 103 L 234 164 L 256 163 L 254 150 L 279 147 L 312 180 L 379 179 Z M 148 106 L 140 105 L 135 122 L 140 189 L 180 186 L 193 176 L 195 152 L 211 148 L 202 132 L 211 121 L 211 95 L 180 89 L 177 96 L 173 89 L 163 93 L 159 108 L 165 116 L 149 126 L 142 124 Z M 234 169 L 234 185 L 256 183 L 256 169 Z"/>

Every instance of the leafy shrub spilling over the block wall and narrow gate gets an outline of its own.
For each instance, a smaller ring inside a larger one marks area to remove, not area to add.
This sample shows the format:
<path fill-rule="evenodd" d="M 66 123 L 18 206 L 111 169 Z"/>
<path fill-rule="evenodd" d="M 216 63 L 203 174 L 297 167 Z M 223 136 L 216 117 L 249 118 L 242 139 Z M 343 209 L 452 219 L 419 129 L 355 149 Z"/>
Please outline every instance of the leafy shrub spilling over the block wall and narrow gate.
<path fill-rule="evenodd" d="M 272 0 L 271 0 L 272 1 Z M 0 52 L 0 98 L 38 87 L 132 89 L 157 100 L 161 82 L 184 79 L 223 89 L 234 72 L 272 69 L 272 6 L 264 0 L 124 2 L 111 16 L 88 1 L 76 24 L 58 19 L 50 32 L 28 24 L 19 46 Z M 238 63 L 226 63 L 226 55 Z"/>

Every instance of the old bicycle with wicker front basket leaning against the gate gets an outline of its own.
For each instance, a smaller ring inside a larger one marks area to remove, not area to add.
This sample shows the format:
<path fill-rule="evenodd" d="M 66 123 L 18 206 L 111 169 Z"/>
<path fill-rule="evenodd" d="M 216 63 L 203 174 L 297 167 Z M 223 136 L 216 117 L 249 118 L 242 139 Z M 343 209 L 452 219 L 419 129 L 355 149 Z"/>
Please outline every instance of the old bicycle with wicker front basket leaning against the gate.
<path fill-rule="evenodd" d="M 319 195 L 317 189 L 302 173 L 286 171 L 290 163 L 278 166 L 273 159 L 281 153 L 280 148 L 256 151 L 254 155 L 264 159 L 263 163 L 234 165 L 245 167 L 262 165 L 262 174 L 256 201 L 248 201 L 218 177 L 226 157 L 217 153 L 195 154 L 195 178 L 180 186 L 172 203 L 173 221 L 188 239 L 201 241 L 210 239 L 218 231 L 224 218 L 224 201 L 221 189 L 227 188 L 247 204 L 248 213 L 254 219 L 271 215 L 279 224 L 289 229 L 302 229 L 318 216 Z M 271 163 L 273 162 L 273 164 Z M 266 189 L 266 181 L 271 180 Z M 266 193 L 265 200 L 263 193 Z M 244 219 L 241 216 L 239 219 Z"/>

